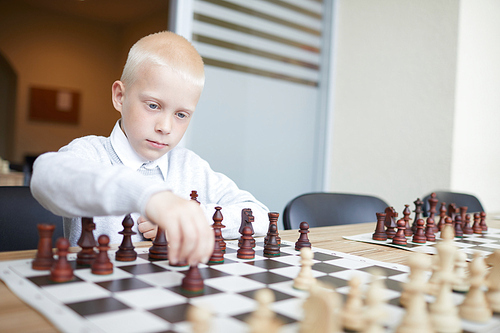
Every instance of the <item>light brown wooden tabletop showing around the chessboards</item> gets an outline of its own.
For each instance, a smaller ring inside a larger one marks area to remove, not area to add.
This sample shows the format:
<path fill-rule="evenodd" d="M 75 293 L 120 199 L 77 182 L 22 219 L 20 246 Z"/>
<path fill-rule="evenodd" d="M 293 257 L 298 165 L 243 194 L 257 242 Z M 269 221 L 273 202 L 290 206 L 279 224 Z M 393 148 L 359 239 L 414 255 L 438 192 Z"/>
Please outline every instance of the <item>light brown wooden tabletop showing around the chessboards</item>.
<path fill-rule="evenodd" d="M 494 216 L 494 214 L 490 214 L 490 216 Z M 487 223 L 490 227 L 500 228 L 500 220 L 488 219 Z M 375 223 L 313 228 L 309 233 L 309 239 L 313 246 L 319 248 L 405 265 L 409 251 L 342 238 L 343 236 L 373 232 L 374 230 Z M 280 236 L 284 240 L 295 242 L 299 233 L 297 230 L 282 230 Z M 136 244 L 137 247 L 150 245 L 150 242 Z M 73 251 L 76 251 L 76 249 L 73 249 Z M 34 250 L 0 252 L 0 260 L 27 259 L 34 256 Z M 17 298 L 0 281 L 0 332 L 57 332 L 57 330 L 45 317 Z"/>

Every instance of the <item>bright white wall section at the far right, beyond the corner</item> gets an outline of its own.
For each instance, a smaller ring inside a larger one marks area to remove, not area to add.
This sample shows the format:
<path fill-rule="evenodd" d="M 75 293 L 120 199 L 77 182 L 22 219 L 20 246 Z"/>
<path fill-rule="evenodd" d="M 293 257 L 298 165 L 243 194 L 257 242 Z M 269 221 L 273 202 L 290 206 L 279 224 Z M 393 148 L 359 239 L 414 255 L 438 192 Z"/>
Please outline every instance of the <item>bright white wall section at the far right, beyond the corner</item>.
<path fill-rule="evenodd" d="M 462 0 L 451 188 L 500 211 L 500 1 Z"/>

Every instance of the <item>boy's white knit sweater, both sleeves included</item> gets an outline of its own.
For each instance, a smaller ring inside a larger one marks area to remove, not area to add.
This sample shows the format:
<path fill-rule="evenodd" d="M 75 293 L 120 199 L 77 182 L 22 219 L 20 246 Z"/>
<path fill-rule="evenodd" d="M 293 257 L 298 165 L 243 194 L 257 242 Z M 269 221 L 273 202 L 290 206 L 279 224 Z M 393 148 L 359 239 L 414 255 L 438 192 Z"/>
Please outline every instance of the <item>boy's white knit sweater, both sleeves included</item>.
<path fill-rule="evenodd" d="M 135 213 L 136 220 L 139 214 L 144 215 L 151 195 L 164 190 L 186 199 L 196 190 L 207 223 L 212 223 L 214 208 L 221 206 L 222 223 L 226 226 L 222 233 L 226 239 L 239 237 L 243 208 L 253 211 L 255 233 L 267 232 L 267 207 L 249 192 L 240 190 L 225 175 L 214 172 L 192 151 L 180 147 L 172 149 L 153 162 L 161 172 L 146 176 L 132 168 L 134 163 L 130 160 L 135 157 L 130 155 L 133 152 L 130 145 L 126 149 L 115 149 L 120 142 L 123 144 L 123 138 L 117 123 L 111 137 L 75 139 L 58 152 L 45 153 L 35 161 L 31 179 L 33 196 L 45 208 L 64 217 L 64 234 L 72 246 L 81 234 L 80 217 L 94 217 L 96 238 L 106 234 L 110 243 L 120 243 L 122 236 L 118 232 L 123 229 L 124 215 Z M 137 224 L 134 231 L 137 232 Z M 133 241 L 140 240 L 139 233 L 133 237 Z"/>

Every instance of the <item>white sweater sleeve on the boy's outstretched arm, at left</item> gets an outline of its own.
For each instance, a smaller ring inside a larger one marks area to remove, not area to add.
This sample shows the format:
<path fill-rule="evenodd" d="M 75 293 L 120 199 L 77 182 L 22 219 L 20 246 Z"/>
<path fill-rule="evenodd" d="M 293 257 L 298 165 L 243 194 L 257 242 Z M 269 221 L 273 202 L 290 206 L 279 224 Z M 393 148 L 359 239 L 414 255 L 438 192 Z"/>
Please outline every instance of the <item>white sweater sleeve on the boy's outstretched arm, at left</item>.
<path fill-rule="evenodd" d="M 144 214 L 151 195 L 168 189 L 124 165 L 112 165 L 103 140 L 76 139 L 37 158 L 30 186 L 42 206 L 65 217 Z"/>

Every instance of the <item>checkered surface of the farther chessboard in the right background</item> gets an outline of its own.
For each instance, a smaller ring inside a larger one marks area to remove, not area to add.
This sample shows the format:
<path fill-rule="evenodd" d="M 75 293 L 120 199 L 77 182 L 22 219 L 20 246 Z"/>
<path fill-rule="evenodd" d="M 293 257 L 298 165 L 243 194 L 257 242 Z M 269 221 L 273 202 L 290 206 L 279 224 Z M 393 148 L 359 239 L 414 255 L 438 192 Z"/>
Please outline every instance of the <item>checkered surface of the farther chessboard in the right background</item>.
<path fill-rule="evenodd" d="M 345 239 L 365 242 L 371 244 L 387 245 L 397 247 L 398 249 L 416 251 L 427 254 L 436 254 L 436 244 L 441 240 L 441 233 L 436 233 L 435 242 L 426 242 L 425 244 L 413 243 L 411 237 L 407 237 L 407 245 L 392 244 L 392 239 L 386 241 L 376 241 L 372 239 L 373 233 L 360 234 L 355 236 L 344 236 Z M 500 249 L 500 229 L 488 228 L 488 232 L 481 235 L 464 235 L 463 238 L 455 237 L 454 244 L 463 252 L 467 253 L 467 260 L 472 260 L 474 252 L 479 252 L 486 257 L 494 251 Z"/>

